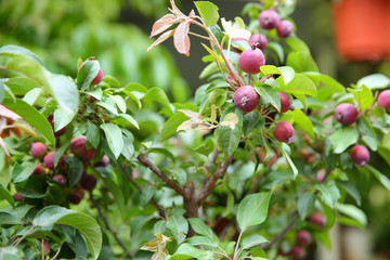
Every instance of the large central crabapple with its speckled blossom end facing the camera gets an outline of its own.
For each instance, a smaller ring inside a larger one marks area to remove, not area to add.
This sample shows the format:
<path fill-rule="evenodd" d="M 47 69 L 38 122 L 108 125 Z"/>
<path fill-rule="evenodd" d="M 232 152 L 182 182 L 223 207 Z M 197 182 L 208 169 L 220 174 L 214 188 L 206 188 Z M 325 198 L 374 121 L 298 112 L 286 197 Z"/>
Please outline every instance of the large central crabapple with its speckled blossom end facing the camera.
<path fill-rule="evenodd" d="M 251 86 L 243 86 L 234 93 L 234 104 L 243 112 L 251 112 L 259 105 L 259 94 Z"/>

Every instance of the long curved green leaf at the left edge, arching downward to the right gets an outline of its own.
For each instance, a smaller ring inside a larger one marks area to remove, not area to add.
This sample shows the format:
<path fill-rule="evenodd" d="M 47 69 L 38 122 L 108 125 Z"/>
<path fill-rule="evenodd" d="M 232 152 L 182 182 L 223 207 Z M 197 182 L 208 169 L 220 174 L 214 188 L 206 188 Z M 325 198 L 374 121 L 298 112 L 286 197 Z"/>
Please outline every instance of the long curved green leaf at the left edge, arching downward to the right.
<path fill-rule="evenodd" d="M 53 129 L 49 121 L 32 106 L 16 99 L 5 98 L 2 105 L 23 117 L 25 121 L 35 127 L 51 144 L 55 144 Z"/>

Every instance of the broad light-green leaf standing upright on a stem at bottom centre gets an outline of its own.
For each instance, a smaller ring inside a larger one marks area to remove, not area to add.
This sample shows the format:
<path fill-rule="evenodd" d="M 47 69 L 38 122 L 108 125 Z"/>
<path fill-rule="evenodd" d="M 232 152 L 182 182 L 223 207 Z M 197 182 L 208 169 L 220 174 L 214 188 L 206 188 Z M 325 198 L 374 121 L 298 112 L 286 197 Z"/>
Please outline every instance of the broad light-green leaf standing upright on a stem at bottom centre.
<path fill-rule="evenodd" d="M 269 193 L 250 194 L 239 203 L 237 223 L 242 231 L 265 221 L 271 195 L 272 191 Z"/>

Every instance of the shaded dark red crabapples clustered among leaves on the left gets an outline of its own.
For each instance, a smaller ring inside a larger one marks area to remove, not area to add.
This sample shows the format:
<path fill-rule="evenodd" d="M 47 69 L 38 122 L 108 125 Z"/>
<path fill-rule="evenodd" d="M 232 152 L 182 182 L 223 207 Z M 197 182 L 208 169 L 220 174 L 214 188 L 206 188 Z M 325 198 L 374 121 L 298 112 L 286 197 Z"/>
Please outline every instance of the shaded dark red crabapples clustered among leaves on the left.
<path fill-rule="evenodd" d="M 94 60 L 94 57 L 90 57 L 87 61 L 90 60 Z M 80 65 L 79 70 L 87 63 L 87 61 Z M 91 84 L 98 84 L 102 81 L 102 79 L 103 72 L 102 68 L 100 68 L 96 77 L 92 80 Z M 48 121 L 53 129 L 55 138 L 58 139 L 66 132 L 65 128 L 54 131 L 53 115 L 48 117 Z M 47 174 L 47 178 L 51 182 L 57 183 L 62 187 L 69 203 L 79 204 L 83 198 L 86 191 L 92 192 L 93 188 L 96 186 L 96 177 L 94 174 L 87 173 L 87 169 L 91 165 L 91 161 L 95 159 L 98 153 L 96 150 L 88 147 L 88 141 L 84 136 L 74 138 L 70 142 L 69 150 L 70 153 L 66 156 L 77 156 L 82 160 L 83 165 L 82 176 L 80 177 L 79 182 L 75 185 L 75 187 L 68 188 L 70 187 L 68 180 L 69 178 L 67 174 L 69 167 L 66 164 L 65 155 L 61 155 L 55 162 L 55 155 L 57 151 L 49 152 L 46 144 L 41 142 L 35 142 L 30 144 L 30 155 L 35 159 L 39 160 L 39 164 L 37 165 L 31 174 Z M 95 161 L 93 166 L 106 167 L 108 164 L 108 157 L 104 155 L 99 161 Z M 20 193 L 15 193 L 13 197 L 15 202 L 22 202 L 24 199 L 24 196 Z"/>

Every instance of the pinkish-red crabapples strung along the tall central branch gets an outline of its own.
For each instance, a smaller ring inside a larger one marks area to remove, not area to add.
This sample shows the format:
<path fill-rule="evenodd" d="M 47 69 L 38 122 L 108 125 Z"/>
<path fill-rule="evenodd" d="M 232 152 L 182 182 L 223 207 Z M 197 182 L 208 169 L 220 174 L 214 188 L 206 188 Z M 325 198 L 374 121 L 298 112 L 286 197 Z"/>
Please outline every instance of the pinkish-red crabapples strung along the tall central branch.
<path fill-rule="evenodd" d="M 289 21 L 281 21 L 280 15 L 274 10 L 260 12 L 259 23 L 263 29 L 270 30 L 276 28 L 277 35 L 283 38 L 289 37 L 294 31 L 292 23 Z M 262 34 L 253 34 L 249 38 L 249 43 L 251 48 L 244 50 L 240 53 L 238 65 L 244 73 L 249 75 L 259 74 L 260 67 L 265 65 L 264 54 L 261 50 L 266 47 L 268 40 Z M 278 94 L 281 99 L 281 113 L 292 109 L 291 98 L 285 92 L 278 92 Z M 260 96 L 252 86 L 239 87 L 234 93 L 234 104 L 244 113 L 256 109 L 259 105 L 259 99 Z M 280 121 L 273 130 L 273 135 L 276 140 L 289 144 L 294 142 L 294 127 L 288 121 Z M 275 148 L 273 148 L 274 156 L 268 161 L 264 161 L 266 153 L 263 147 L 258 147 L 256 152 L 260 162 L 272 165 L 277 159 Z"/>

